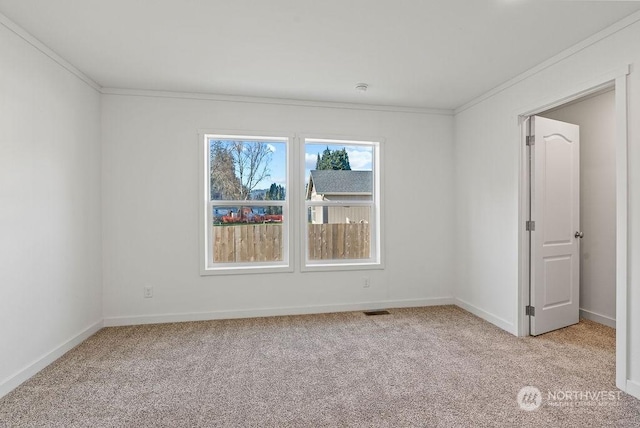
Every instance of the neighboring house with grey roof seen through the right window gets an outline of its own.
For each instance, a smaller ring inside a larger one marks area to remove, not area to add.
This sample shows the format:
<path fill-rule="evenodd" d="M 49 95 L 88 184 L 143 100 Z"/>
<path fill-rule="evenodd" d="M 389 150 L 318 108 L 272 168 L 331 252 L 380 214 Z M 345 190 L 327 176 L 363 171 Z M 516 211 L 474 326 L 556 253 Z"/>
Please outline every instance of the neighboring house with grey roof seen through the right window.
<path fill-rule="evenodd" d="M 307 183 L 308 201 L 371 201 L 372 171 L 312 170 Z M 368 223 L 370 207 L 323 206 L 309 209 L 309 221 L 321 223 Z"/>

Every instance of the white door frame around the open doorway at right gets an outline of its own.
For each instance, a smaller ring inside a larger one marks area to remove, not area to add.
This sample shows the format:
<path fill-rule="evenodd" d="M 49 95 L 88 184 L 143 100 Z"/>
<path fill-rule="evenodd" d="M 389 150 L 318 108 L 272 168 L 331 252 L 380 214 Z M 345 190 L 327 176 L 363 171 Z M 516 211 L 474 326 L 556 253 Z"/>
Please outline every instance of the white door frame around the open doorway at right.
<path fill-rule="evenodd" d="M 518 336 L 529 336 L 529 317 L 525 306 L 529 305 L 530 275 L 529 232 L 525 222 L 529 219 L 530 171 L 526 146 L 527 118 L 555 107 L 576 101 L 607 88 L 615 91 L 615 151 L 616 151 L 616 386 L 627 391 L 628 372 L 628 173 L 627 173 L 627 76 L 630 67 L 614 70 L 606 75 L 585 82 L 561 94 L 524 107 L 516 112 L 519 129 L 519 183 L 518 183 Z"/>

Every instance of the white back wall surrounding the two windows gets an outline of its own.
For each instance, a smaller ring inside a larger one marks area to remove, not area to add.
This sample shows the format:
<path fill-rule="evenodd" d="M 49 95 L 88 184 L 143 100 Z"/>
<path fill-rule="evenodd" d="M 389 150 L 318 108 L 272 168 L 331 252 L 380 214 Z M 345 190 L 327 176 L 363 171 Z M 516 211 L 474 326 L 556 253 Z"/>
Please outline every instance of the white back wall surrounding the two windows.
<path fill-rule="evenodd" d="M 105 323 L 451 302 L 451 115 L 148 95 L 103 96 Z M 385 138 L 386 269 L 200 276 L 199 129 Z"/>

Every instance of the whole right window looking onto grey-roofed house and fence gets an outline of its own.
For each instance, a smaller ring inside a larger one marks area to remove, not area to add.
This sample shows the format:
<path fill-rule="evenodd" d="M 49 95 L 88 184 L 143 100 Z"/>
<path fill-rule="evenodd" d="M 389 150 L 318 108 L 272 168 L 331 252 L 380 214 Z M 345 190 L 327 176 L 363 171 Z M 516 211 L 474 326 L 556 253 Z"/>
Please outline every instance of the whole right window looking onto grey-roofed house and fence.
<path fill-rule="evenodd" d="M 381 266 L 380 145 L 304 140 L 304 268 Z"/>

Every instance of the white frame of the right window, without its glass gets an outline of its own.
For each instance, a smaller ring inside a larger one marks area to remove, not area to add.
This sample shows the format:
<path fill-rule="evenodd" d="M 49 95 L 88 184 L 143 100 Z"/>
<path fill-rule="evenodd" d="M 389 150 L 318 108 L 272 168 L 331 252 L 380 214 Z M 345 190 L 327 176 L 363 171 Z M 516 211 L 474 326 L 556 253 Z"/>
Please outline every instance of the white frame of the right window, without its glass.
<path fill-rule="evenodd" d="M 322 145 L 345 145 L 345 146 L 366 146 L 373 149 L 372 171 L 373 171 L 373 201 L 307 201 L 306 196 L 301 194 L 301 215 L 300 222 L 300 260 L 302 272 L 317 271 L 338 271 L 338 270 L 373 270 L 384 269 L 383 254 L 383 181 L 382 181 L 382 152 L 384 140 L 381 138 L 357 138 L 357 137 L 326 137 L 319 135 L 302 135 L 300 142 L 300 182 L 306 183 L 309 177 L 305 174 L 305 153 L 307 143 Z M 304 184 L 300 192 L 304 191 Z M 312 206 L 369 206 L 371 207 L 372 218 L 370 219 L 371 230 L 371 257 L 368 259 L 332 259 L 332 260 L 309 260 L 309 247 L 307 243 L 308 232 L 308 209 Z"/>

